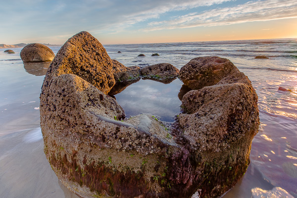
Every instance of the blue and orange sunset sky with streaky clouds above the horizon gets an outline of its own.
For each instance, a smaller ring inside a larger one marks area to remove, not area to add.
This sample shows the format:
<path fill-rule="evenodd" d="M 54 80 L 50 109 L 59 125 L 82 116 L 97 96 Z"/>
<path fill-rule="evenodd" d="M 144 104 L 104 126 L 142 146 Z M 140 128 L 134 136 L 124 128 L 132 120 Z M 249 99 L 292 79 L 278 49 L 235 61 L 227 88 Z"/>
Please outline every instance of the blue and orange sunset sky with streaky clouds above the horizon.
<path fill-rule="evenodd" d="M 297 0 L 1 0 L 0 44 L 297 38 Z"/>

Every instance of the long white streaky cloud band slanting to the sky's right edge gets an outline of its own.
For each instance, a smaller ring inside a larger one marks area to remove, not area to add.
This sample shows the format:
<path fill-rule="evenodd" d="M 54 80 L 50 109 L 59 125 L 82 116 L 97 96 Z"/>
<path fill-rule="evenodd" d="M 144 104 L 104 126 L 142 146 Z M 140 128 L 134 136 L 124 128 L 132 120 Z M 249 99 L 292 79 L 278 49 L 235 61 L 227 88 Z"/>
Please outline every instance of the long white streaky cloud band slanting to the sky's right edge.
<path fill-rule="evenodd" d="M 143 31 L 220 26 L 251 21 L 267 21 L 297 17 L 296 0 L 249 1 L 234 7 L 216 8 L 201 13 L 177 16 L 171 20 L 153 21 Z"/>

